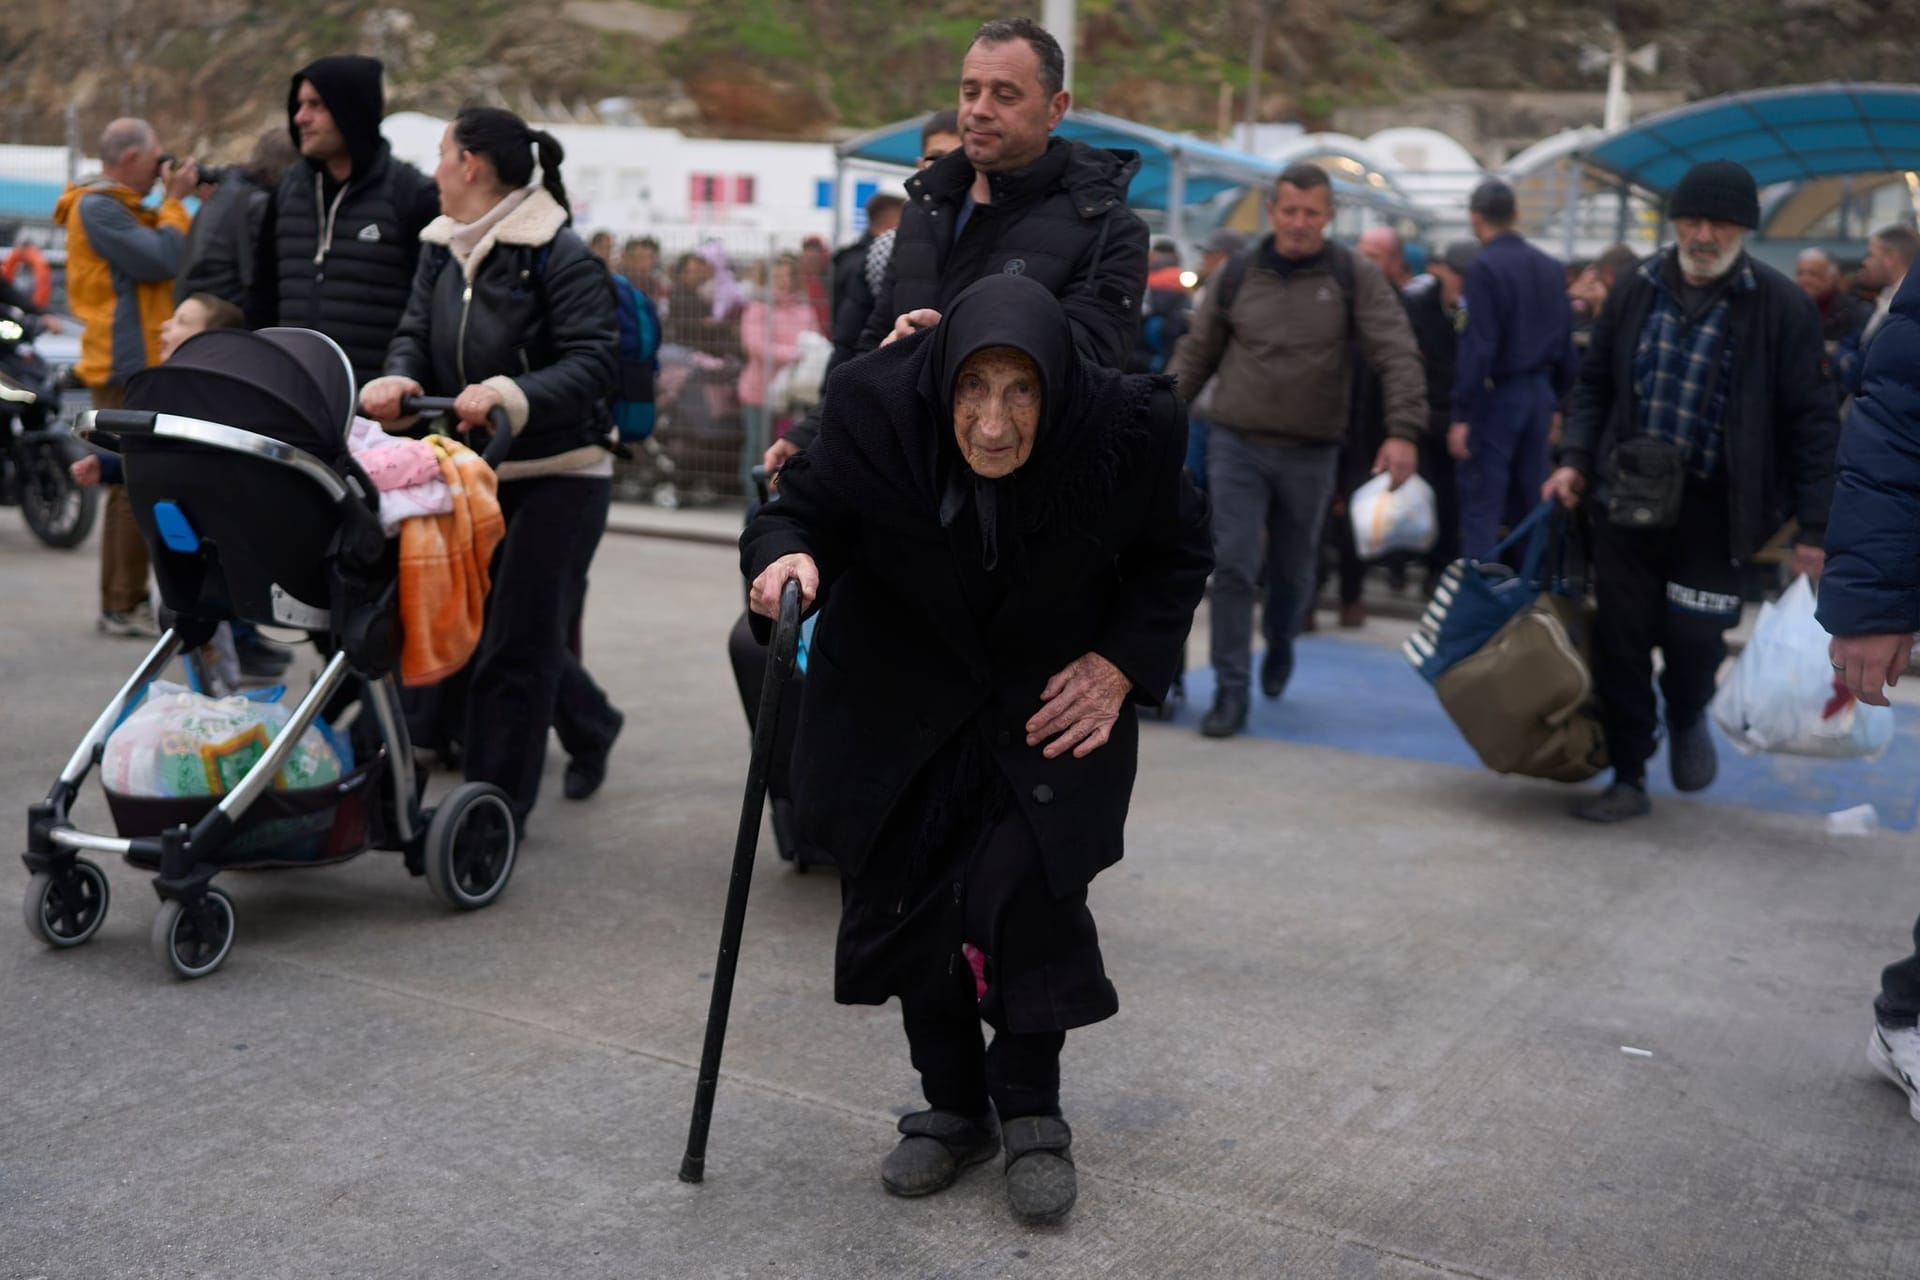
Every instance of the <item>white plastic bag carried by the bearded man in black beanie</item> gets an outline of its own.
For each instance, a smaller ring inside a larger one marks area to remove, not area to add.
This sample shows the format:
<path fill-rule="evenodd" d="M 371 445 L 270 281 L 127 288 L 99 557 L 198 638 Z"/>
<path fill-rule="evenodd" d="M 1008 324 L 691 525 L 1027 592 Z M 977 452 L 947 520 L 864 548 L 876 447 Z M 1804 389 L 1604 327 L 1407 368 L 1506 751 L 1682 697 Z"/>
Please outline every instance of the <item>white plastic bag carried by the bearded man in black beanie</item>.
<path fill-rule="evenodd" d="M 1828 658 L 1814 595 L 1795 578 L 1763 604 L 1753 639 L 1713 699 L 1713 722 L 1743 752 L 1872 760 L 1893 741 L 1893 708 L 1849 697 Z"/>

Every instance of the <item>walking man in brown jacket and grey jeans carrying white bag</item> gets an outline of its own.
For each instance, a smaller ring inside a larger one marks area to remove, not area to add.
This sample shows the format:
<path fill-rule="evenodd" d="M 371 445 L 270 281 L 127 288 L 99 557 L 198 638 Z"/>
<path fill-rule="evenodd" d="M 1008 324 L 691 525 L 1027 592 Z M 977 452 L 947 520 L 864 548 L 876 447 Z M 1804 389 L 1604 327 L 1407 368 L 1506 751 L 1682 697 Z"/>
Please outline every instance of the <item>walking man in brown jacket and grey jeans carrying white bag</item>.
<path fill-rule="evenodd" d="M 1363 357 L 1380 374 L 1386 441 L 1373 468 L 1390 472 L 1394 487 L 1415 472 L 1427 426 L 1421 355 L 1394 288 L 1379 267 L 1327 240 L 1327 171 L 1288 165 L 1267 219 L 1273 234 L 1221 269 L 1169 365 L 1188 393 L 1213 380 L 1208 495 L 1217 693 L 1200 722 L 1206 737 L 1246 727 L 1261 564 L 1269 591 L 1260 689 L 1269 699 L 1286 691 L 1348 432 L 1354 361 Z"/>

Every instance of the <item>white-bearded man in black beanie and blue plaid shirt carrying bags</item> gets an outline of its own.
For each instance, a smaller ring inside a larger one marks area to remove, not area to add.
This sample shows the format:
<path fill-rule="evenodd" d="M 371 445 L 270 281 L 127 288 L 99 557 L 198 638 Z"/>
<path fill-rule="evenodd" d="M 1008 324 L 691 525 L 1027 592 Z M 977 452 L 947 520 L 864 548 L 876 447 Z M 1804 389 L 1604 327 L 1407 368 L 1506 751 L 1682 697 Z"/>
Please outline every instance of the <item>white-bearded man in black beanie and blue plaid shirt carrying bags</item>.
<path fill-rule="evenodd" d="M 1667 215 L 1676 244 L 1624 274 L 1594 324 L 1561 466 L 1542 489 L 1569 507 L 1590 484 L 1596 497 L 1594 685 L 1613 785 L 1574 808 L 1590 821 L 1649 810 L 1653 649 L 1674 787 L 1713 783 L 1707 702 L 1740 622 L 1740 564 L 1797 516 L 1793 568 L 1818 576 L 1834 495 L 1820 313 L 1745 251 L 1761 221 L 1753 175 L 1693 165 Z"/>

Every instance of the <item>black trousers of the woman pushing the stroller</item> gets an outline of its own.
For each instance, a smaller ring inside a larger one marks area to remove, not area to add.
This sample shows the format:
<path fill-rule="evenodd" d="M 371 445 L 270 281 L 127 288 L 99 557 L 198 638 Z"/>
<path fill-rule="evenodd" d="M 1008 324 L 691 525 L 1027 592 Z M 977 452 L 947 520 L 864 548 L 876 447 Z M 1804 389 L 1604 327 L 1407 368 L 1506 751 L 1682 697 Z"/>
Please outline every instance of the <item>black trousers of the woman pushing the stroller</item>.
<path fill-rule="evenodd" d="M 580 670 L 568 647 L 574 608 L 586 599 L 588 566 L 607 530 L 611 497 L 612 482 L 576 476 L 499 486 L 507 533 L 493 553 L 486 628 L 468 668 L 467 779 L 495 783 L 522 821 L 540 796 L 547 729 L 555 723 L 563 687 L 566 733 L 576 735 L 568 752 L 584 750 L 582 737 L 611 723 L 607 695 Z"/>

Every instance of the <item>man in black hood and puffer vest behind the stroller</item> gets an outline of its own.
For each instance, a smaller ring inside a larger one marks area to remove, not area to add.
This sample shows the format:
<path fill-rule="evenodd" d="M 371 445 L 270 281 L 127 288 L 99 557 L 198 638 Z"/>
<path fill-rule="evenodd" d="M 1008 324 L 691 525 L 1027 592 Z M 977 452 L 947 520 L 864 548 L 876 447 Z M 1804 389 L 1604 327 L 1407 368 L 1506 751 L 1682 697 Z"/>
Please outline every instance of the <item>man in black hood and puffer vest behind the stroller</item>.
<path fill-rule="evenodd" d="M 288 130 L 301 161 L 273 192 L 259 230 L 248 319 L 317 328 L 380 376 L 386 344 L 407 307 L 420 228 L 440 215 L 440 190 L 394 159 L 380 119 L 386 96 L 374 58 L 321 58 L 294 73 Z"/>

